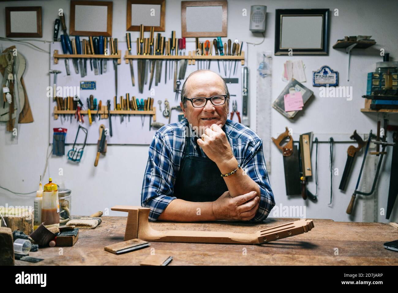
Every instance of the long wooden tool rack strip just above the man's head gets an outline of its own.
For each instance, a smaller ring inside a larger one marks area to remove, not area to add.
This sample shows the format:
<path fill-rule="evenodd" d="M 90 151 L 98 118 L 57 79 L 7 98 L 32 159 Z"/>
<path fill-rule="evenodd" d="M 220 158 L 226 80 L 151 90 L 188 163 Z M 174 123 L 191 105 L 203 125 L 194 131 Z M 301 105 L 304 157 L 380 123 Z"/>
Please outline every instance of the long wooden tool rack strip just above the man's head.
<path fill-rule="evenodd" d="M 81 56 L 81 55 L 79 55 Z M 81 58 L 81 57 L 80 57 Z M 129 51 L 125 53 L 125 62 L 129 63 L 129 59 L 188 59 L 188 65 L 195 65 L 195 60 L 240 60 L 240 64 L 245 65 L 244 51 L 240 55 L 196 55 L 196 51 L 188 51 L 188 55 L 129 55 Z"/>

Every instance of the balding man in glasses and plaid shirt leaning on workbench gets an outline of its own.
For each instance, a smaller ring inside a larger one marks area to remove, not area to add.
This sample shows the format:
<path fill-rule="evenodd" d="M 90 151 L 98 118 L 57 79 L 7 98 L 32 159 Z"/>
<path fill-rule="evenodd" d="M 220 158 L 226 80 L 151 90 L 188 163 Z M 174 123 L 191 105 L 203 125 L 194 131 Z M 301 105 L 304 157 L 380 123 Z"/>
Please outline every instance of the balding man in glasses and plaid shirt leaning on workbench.
<path fill-rule="evenodd" d="M 187 119 L 160 128 L 149 147 L 141 203 L 150 220 L 264 220 L 275 201 L 262 141 L 227 119 L 222 77 L 191 73 L 180 105 Z"/>

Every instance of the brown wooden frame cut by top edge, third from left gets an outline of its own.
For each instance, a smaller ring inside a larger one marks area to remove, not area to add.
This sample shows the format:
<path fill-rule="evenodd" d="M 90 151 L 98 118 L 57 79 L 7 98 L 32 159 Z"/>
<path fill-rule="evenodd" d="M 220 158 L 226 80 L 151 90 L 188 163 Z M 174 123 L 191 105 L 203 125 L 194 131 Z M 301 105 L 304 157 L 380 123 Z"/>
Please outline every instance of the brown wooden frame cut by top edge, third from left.
<path fill-rule="evenodd" d="M 166 29 L 166 0 L 127 0 L 126 30 L 165 31 Z M 134 20 L 134 21 L 133 21 Z"/>

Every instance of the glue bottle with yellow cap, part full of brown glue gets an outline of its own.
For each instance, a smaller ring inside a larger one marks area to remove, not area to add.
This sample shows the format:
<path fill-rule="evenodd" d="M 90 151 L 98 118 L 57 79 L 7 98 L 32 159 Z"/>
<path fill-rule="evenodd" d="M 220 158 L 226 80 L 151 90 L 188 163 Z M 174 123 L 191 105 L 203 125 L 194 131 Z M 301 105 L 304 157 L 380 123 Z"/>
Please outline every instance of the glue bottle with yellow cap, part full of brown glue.
<path fill-rule="evenodd" d="M 49 183 L 44 185 L 41 221 L 46 227 L 59 227 L 58 189 L 57 184 L 53 183 L 53 179 L 51 178 L 49 179 Z"/>

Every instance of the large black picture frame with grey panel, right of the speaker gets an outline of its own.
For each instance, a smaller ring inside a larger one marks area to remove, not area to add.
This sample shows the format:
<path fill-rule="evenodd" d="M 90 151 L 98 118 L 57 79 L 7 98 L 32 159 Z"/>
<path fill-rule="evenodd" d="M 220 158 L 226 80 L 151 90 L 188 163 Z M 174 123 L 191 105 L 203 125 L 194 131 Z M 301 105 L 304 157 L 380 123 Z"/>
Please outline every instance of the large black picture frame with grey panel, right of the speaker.
<path fill-rule="evenodd" d="M 276 10 L 275 55 L 328 54 L 329 9 Z"/>

